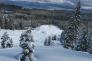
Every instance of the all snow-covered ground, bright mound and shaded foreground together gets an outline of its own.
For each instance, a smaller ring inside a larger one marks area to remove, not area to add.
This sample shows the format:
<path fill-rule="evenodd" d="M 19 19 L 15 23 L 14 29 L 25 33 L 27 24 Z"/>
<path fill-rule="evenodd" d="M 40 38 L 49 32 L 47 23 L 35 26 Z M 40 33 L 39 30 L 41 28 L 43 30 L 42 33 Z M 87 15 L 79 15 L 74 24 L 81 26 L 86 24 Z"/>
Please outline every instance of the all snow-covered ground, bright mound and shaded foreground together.
<path fill-rule="evenodd" d="M 0 61 L 19 61 L 22 49 L 18 47 L 19 37 L 25 30 L 0 30 L 0 37 L 8 32 L 15 47 L 0 49 Z M 62 30 L 52 25 L 43 25 L 32 31 L 35 40 L 35 61 L 92 61 L 92 55 L 85 52 L 72 51 L 58 46 L 43 46 L 45 38 L 60 35 Z M 1 40 L 0 40 L 1 41 Z"/>

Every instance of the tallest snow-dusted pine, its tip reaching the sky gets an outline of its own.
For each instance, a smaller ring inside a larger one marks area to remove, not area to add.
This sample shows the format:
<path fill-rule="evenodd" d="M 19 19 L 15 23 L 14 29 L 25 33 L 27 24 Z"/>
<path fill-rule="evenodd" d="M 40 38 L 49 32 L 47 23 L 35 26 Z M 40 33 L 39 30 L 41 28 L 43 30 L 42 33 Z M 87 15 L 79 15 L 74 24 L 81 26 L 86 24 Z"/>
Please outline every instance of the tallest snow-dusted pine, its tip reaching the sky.
<path fill-rule="evenodd" d="M 64 40 L 64 47 L 65 48 L 72 48 L 75 49 L 76 41 L 78 41 L 78 35 L 79 35 L 79 25 L 80 25 L 80 0 L 77 3 L 75 15 L 71 21 L 69 21 L 69 24 L 67 25 L 67 28 L 65 31 L 65 40 Z"/>

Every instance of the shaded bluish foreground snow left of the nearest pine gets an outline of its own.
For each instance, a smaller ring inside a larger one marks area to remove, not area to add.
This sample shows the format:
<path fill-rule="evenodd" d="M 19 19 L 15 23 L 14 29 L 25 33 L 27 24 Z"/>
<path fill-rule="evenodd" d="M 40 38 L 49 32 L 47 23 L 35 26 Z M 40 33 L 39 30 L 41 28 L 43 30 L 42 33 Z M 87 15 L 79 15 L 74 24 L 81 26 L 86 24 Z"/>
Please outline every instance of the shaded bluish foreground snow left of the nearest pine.
<path fill-rule="evenodd" d="M 0 61 L 18 61 L 21 51 L 19 47 L 0 49 Z"/>

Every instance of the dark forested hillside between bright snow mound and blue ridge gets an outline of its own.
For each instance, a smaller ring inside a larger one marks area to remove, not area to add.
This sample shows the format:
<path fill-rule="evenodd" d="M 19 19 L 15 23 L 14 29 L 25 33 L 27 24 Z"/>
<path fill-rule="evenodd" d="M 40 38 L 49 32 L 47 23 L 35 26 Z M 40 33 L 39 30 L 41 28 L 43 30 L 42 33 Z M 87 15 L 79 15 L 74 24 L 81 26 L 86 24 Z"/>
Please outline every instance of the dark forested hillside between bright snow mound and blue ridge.
<path fill-rule="evenodd" d="M 37 9 L 37 8 L 23 8 L 15 5 L 0 5 L 0 19 L 3 21 L 4 15 L 9 18 L 11 25 L 7 27 L 8 29 L 20 29 L 20 25 L 23 27 L 37 27 L 44 24 L 53 24 L 60 28 L 66 25 L 68 21 L 71 20 L 71 17 L 74 16 L 73 10 L 46 10 L 46 9 Z M 92 13 L 88 11 L 81 11 L 81 23 L 86 25 L 87 22 L 91 23 Z M 1 22 L 0 22 L 1 23 Z M 13 26 L 14 25 L 14 26 Z M 0 24 L 3 28 L 2 24 Z M 13 26 L 13 27 L 12 27 Z M 89 25 L 91 27 L 92 24 Z M 24 29 L 24 28 L 22 28 Z"/>

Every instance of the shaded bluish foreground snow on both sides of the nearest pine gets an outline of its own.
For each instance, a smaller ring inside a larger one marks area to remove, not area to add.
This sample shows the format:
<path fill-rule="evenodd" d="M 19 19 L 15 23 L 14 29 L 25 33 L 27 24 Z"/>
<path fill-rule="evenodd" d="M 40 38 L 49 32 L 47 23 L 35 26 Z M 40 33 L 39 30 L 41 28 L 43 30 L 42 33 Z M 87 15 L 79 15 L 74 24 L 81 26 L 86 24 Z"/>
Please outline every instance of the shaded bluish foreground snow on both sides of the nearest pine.
<path fill-rule="evenodd" d="M 21 48 L 0 50 L 0 61 L 18 61 Z M 92 61 L 92 55 L 58 47 L 36 46 L 35 61 Z"/>

